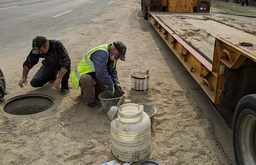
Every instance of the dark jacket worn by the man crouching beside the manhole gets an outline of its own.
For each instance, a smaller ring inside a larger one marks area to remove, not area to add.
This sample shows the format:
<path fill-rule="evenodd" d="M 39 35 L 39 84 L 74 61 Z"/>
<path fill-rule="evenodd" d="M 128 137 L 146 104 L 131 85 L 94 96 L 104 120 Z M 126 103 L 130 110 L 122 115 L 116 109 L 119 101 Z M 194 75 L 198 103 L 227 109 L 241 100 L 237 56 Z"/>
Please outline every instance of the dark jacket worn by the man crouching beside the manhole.
<path fill-rule="evenodd" d="M 49 50 L 46 54 L 32 54 L 32 50 L 27 56 L 23 67 L 26 65 L 28 68 L 33 68 L 39 61 L 39 58 L 44 58 L 42 64 L 46 66 L 53 66 L 60 64 L 62 68 L 70 69 L 70 58 L 63 44 L 58 40 L 49 40 Z"/>

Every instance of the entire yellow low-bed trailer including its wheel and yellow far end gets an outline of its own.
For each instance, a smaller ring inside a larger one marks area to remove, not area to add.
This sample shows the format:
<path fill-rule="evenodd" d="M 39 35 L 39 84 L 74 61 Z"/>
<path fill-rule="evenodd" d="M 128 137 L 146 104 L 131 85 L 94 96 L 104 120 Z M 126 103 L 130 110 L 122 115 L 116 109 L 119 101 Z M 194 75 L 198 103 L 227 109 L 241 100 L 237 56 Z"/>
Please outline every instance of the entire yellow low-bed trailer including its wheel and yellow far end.
<path fill-rule="evenodd" d="M 212 15 L 209 10 L 210 0 L 142 0 L 143 17 L 149 19 L 219 112 L 233 122 L 236 163 L 253 165 L 256 27 Z"/>

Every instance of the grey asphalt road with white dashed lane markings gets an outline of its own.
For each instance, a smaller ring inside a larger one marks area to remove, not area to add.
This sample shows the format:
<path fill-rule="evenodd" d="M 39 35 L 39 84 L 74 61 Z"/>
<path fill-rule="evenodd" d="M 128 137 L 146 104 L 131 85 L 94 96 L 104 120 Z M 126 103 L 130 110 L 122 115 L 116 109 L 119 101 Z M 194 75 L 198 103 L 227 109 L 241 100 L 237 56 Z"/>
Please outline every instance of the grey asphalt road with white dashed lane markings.
<path fill-rule="evenodd" d="M 117 4 L 112 0 L 1 0 L 1 58 L 31 50 L 37 35 L 59 39 Z"/>

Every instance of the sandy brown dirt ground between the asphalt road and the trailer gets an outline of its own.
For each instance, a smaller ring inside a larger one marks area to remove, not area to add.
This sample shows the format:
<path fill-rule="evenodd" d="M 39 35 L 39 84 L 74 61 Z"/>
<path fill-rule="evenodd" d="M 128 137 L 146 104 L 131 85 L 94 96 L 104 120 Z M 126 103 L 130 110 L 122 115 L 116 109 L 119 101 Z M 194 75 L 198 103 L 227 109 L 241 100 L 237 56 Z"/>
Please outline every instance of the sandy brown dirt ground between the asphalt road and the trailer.
<path fill-rule="evenodd" d="M 149 21 L 142 18 L 140 9 L 138 1 L 121 0 L 84 27 L 71 28 L 59 38 L 69 52 L 72 70 L 92 47 L 121 40 L 127 45 L 126 62 L 118 61 L 117 70 L 127 99 L 157 109 L 148 159 L 162 165 L 235 164 L 231 130 Z M 4 104 L 0 105 L 0 164 L 100 165 L 116 160 L 106 114 L 100 108 L 88 108 L 71 83 L 66 96 L 52 84 L 38 89 L 18 87 L 26 56 L 17 54 L 1 62 L 8 92 L 5 99 L 43 93 L 54 98 L 54 105 L 32 115 L 7 114 L 2 110 Z M 40 66 L 38 63 L 30 71 L 28 81 Z M 140 68 L 151 73 L 149 90 L 144 93 L 131 90 L 130 71 Z"/>

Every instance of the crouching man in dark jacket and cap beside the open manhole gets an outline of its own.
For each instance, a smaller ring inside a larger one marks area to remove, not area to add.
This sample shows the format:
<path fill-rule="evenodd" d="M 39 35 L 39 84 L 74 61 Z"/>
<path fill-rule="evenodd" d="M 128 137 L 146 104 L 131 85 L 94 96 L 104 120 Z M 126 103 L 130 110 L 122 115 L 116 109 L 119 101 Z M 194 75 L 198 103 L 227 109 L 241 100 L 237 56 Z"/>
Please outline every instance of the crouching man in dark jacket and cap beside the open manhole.
<path fill-rule="evenodd" d="M 29 70 L 38 63 L 39 58 L 44 58 L 41 68 L 30 81 L 31 86 L 42 87 L 49 81 L 50 83 L 54 81 L 56 89 L 61 84 L 62 95 L 69 93 L 70 58 L 62 43 L 58 40 L 47 40 L 43 36 L 37 36 L 33 39 L 32 47 L 33 49 L 23 63 L 22 80 L 20 80 L 19 86 L 23 87 L 23 83 L 27 85 Z"/>

